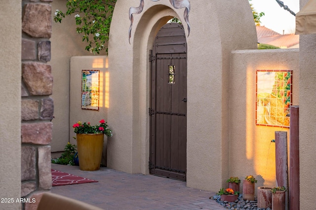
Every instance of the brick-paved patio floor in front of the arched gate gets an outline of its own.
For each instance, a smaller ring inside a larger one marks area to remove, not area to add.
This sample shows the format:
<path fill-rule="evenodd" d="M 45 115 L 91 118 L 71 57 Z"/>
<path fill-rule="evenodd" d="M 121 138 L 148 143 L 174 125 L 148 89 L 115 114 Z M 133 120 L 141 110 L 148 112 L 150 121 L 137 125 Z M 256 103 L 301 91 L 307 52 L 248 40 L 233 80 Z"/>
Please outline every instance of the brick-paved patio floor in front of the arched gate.
<path fill-rule="evenodd" d="M 78 166 L 52 164 L 52 169 L 98 182 L 54 186 L 51 192 L 104 210 L 224 210 L 209 199 L 214 192 L 156 175 L 127 174 L 109 168 L 84 172 Z"/>

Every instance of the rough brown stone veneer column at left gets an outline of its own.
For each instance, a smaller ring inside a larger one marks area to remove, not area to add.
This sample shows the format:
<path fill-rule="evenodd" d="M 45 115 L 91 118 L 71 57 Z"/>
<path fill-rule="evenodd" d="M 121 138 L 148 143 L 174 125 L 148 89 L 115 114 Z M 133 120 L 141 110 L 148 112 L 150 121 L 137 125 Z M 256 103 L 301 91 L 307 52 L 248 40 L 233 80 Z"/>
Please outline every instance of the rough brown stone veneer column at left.
<path fill-rule="evenodd" d="M 50 142 L 54 105 L 50 61 L 53 0 L 22 0 L 21 197 L 35 198 L 22 209 L 35 210 L 51 188 Z"/>

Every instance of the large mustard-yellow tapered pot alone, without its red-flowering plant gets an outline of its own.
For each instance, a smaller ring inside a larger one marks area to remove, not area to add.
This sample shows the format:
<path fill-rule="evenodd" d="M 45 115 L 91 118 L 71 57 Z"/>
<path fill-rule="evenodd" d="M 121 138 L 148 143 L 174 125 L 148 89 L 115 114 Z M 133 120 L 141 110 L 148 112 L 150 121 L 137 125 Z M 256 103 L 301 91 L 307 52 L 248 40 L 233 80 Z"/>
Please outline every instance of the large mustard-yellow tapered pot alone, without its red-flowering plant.
<path fill-rule="evenodd" d="M 79 169 L 96 171 L 100 169 L 104 134 L 77 134 Z"/>

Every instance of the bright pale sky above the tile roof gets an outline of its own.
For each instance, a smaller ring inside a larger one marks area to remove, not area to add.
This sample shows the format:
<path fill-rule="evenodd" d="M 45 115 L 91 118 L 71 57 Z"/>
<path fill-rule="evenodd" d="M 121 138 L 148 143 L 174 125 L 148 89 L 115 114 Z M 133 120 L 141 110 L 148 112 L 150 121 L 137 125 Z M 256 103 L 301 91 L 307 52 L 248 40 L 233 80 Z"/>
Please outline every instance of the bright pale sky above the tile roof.
<path fill-rule="evenodd" d="M 282 0 L 284 5 L 287 5 L 294 13 L 300 10 L 300 0 Z M 280 7 L 276 0 L 251 0 L 249 1 L 253 8 L 258 12 L 264 12 L 261 21 L 261 26 L 265 26 L 279 34 L 294 34 L 295 33 L 295 16 Z"/>

